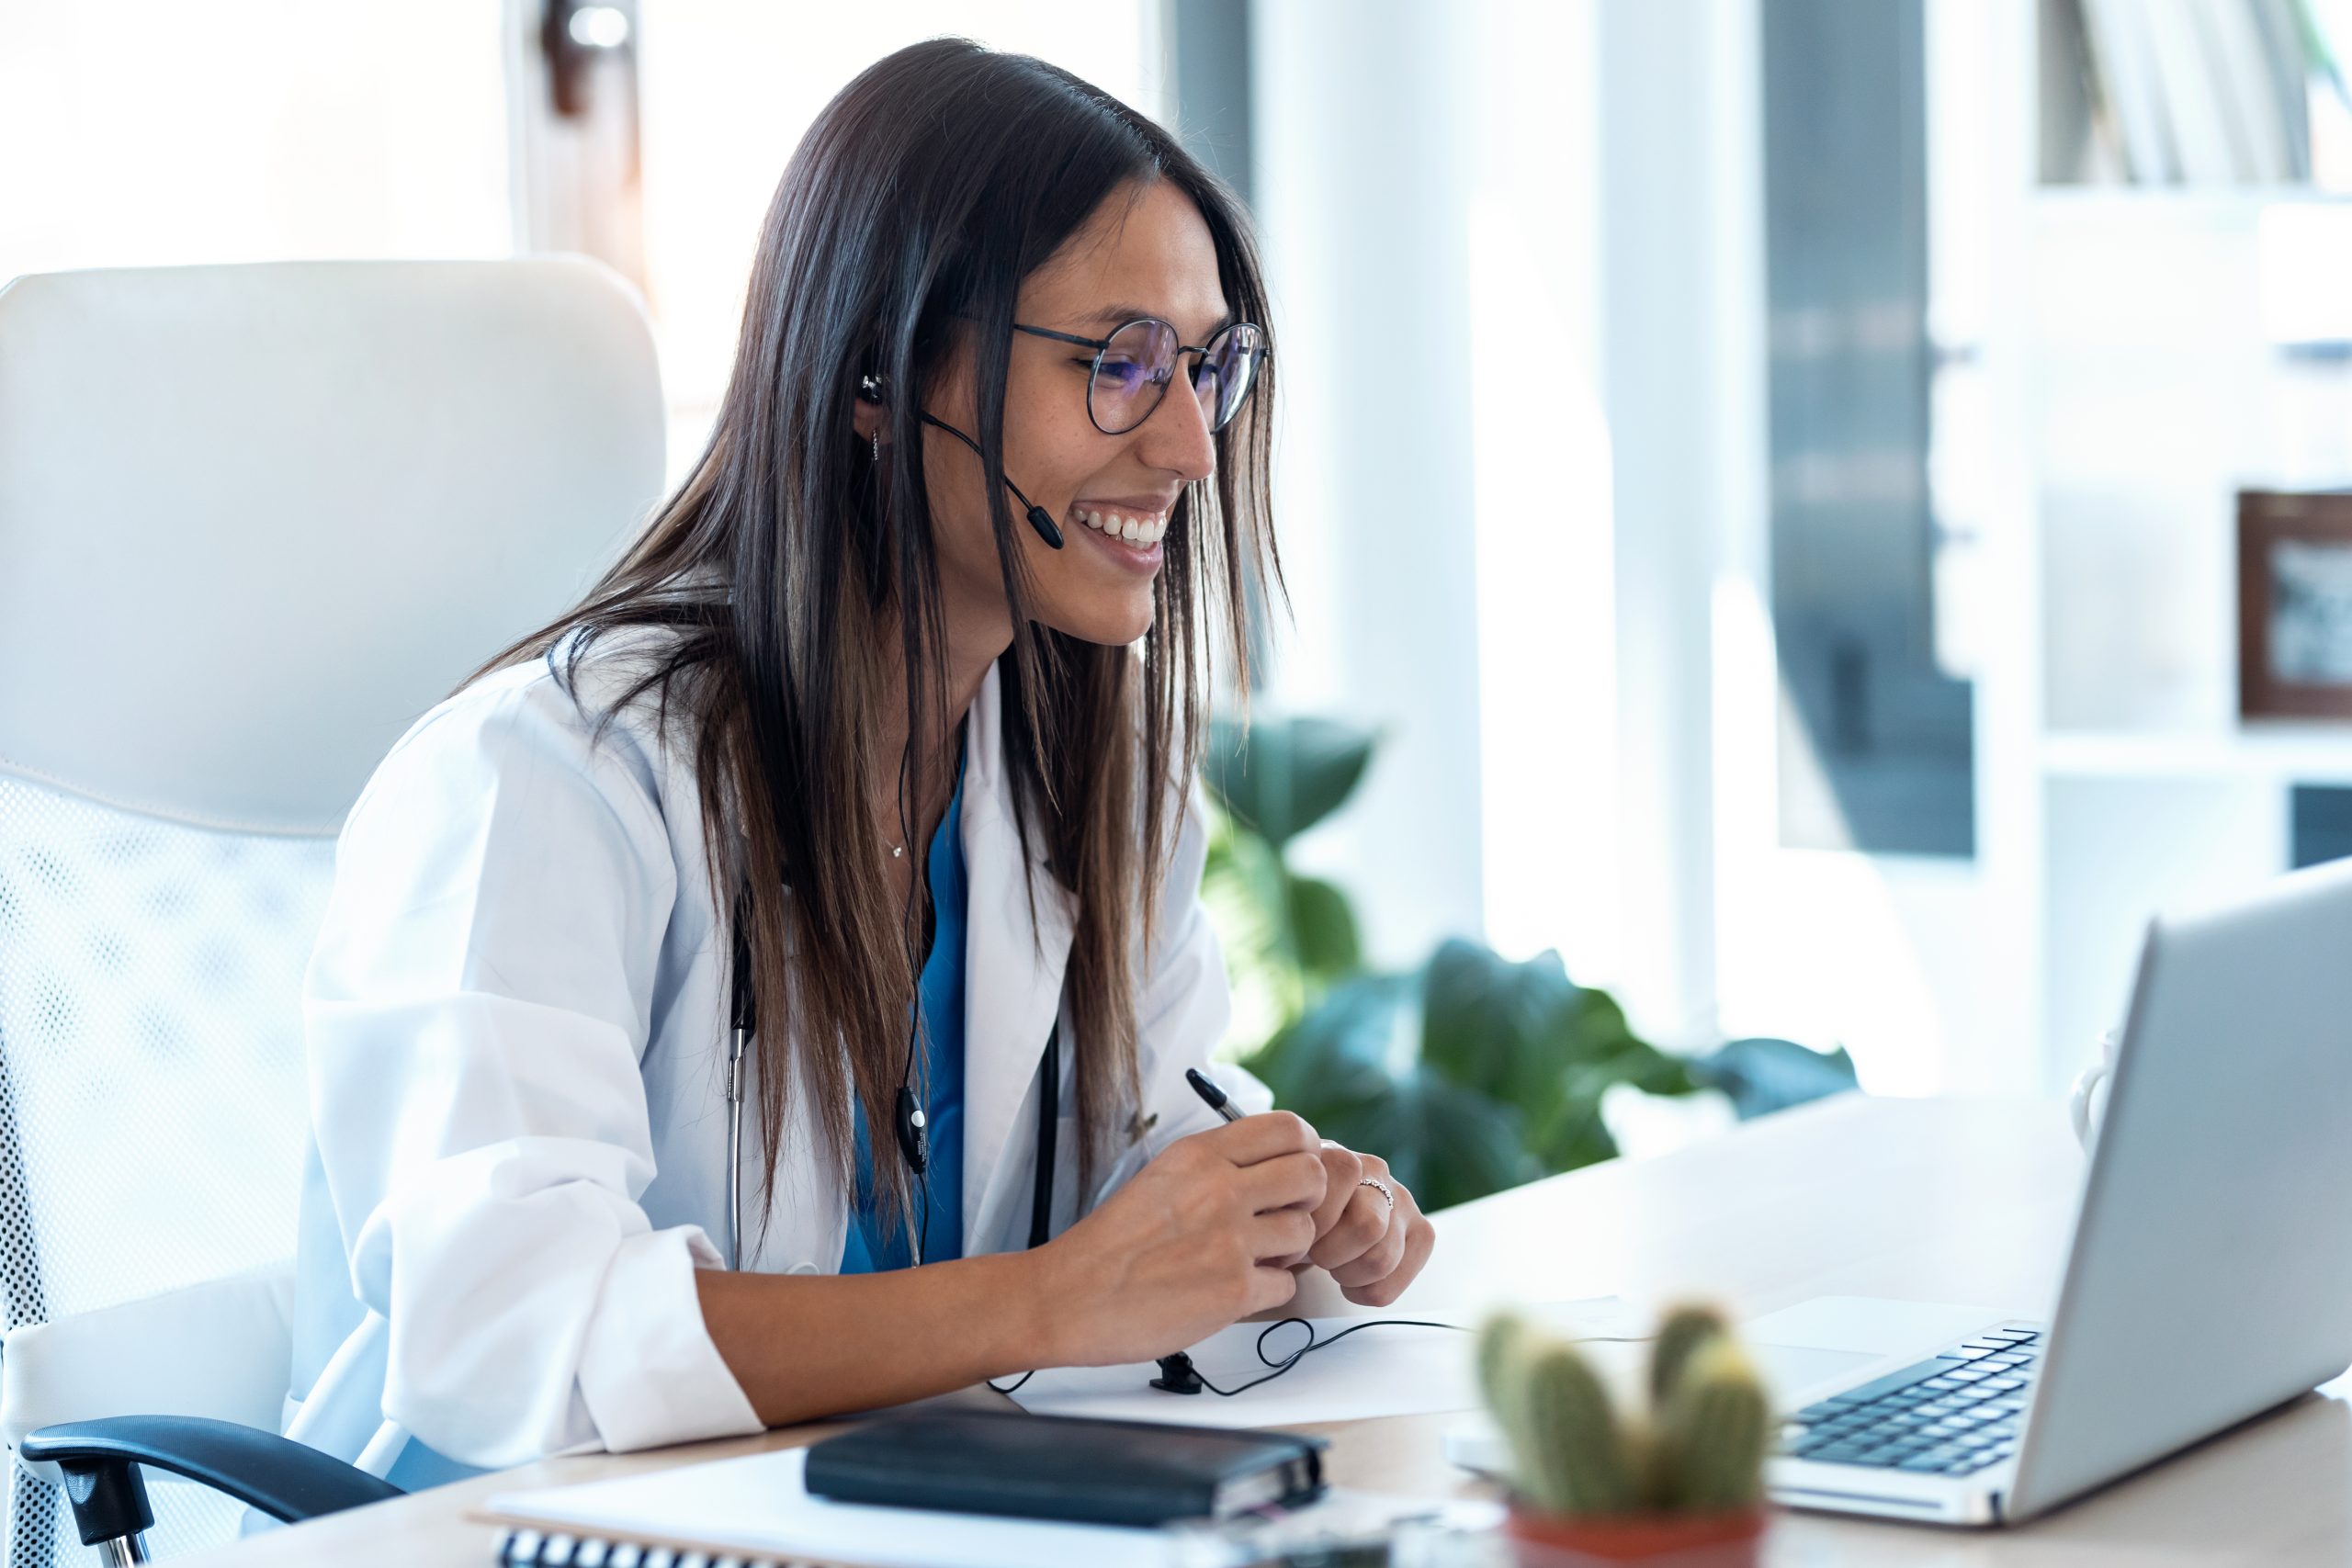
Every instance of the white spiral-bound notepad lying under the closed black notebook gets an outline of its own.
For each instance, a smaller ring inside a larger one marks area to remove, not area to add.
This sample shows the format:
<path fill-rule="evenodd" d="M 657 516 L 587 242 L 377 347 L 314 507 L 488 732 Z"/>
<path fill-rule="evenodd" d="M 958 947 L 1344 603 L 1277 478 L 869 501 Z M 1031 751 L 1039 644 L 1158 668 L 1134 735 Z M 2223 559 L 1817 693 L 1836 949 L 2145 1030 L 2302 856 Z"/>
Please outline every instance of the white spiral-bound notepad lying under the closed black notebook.
<path fill-rule="evenodd" d="M 873 1568 L 1167 1568 L 1181 1552 L 1160 1530 L 884 1509 L 811 1497 L 804 1448 L 682 1465 L 619 1481 L 501 1493 L 487 1512 L 576 1535 L 706 1542 L 722 1552 L 821 1556 Z M 1371 1530 L 1446 1509 L 1432 1497 L 1331 1490 L 1284 1530 Z"/>

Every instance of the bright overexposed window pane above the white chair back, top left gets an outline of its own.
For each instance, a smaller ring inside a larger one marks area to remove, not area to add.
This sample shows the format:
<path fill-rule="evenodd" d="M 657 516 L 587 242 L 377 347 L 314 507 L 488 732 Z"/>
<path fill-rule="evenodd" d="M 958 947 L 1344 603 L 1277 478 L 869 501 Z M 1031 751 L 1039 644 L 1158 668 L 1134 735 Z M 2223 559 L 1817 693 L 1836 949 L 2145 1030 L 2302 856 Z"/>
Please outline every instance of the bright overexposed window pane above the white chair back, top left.
<path fill-rule="evenodd" d="M 499 7 L 19 5 L 0 49 L 0 277 L 503 256 Z"/>

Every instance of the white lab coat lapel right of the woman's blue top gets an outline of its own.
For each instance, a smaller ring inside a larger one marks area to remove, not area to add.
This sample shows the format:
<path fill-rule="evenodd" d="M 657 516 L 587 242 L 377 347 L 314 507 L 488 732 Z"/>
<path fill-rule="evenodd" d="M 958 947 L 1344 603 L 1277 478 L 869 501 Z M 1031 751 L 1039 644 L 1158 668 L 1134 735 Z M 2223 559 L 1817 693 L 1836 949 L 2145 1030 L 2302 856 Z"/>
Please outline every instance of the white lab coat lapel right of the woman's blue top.
<path fill-rule="evenodd" d="M 1014 1246 L 1007 1204 L 1021 1192 L 1028 1234 L 1030 1159 L 1011 1159 L 1037 1114 L 1037 1065 L 1061 1011 L 1061 976 L 1070 959 L 1073 898 L 1044 865 L 1044 842 L 1021 851 L 1014 795 L 1004 773 L 1004 708 L 997 661 L 971 698 L 964 736 L 964 1253 Z M 1037 870 L 1037 917 L 1030 919 L 1028 863 Z"/>

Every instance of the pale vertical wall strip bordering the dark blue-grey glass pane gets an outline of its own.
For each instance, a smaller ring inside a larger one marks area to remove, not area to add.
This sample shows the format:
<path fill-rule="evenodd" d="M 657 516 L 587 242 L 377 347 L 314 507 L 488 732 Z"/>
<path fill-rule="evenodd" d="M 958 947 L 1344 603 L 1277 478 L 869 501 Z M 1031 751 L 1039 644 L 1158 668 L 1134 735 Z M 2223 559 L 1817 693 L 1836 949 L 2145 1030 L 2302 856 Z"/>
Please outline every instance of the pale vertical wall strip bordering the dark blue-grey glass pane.
<path fill-rule="evenodd" d="M 1675 1044 L 1715 1030 L 1712 597 L 1764 494 L 1757 73 L 1755 0 L 1599 7 L 1618 990 Z"/>

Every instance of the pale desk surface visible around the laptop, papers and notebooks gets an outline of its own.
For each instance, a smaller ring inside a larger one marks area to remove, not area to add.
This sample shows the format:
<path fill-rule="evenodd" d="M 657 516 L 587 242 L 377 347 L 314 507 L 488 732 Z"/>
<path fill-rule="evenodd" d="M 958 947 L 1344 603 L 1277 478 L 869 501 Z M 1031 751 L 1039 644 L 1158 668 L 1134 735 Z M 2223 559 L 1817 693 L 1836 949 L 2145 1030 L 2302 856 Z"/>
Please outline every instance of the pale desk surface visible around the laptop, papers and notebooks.
<path fill-rule="evenodd" d="M 1395 1307 L 1700 1293 L 1740 1316 L 1813 1295 L 1980 1302 L 2039 1314 L 2056 1288 L 2082 1157 L 2058 1105 L 1851 1095 L 1649 1161 L 1613 1161 L 1437 1215 L 1437 1253 Z M 1783 1514 L 1773 1566 L 2352 1561 L 2352 1378 L 2023 1530 L 1962 1533 Z M 1458 1418 L 1322 1427 L 1343 1486 L 1463 1490 Z M 489 1561 L 466 1509 L 499 1490 L 788 1448 L 828 1427 L 524 1469 L 273 1530 L 212 1568 Z"/>

